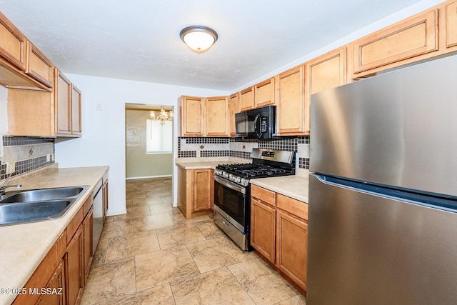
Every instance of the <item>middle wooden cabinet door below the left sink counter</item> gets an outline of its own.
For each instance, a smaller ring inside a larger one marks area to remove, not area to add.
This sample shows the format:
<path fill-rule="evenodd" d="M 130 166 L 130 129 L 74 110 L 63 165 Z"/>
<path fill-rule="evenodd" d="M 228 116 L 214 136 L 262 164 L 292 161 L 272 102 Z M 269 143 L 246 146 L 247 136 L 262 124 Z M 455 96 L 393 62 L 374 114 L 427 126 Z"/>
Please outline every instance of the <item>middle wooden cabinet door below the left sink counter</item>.
<path fill-rule="evenodd" d="M 65 254 L 66 268 L 66 304 L 74 305 L 79 302 L 84 286 L 84 265 L 83 265 L 83 226 L 79 226 Z"/>

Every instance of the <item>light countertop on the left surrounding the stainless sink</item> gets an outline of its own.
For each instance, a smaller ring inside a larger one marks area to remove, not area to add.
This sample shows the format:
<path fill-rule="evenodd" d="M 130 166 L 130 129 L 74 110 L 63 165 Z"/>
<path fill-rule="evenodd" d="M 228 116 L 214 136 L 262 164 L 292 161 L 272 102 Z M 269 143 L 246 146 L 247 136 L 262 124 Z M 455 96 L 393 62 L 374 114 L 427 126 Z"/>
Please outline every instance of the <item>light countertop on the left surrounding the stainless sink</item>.
<path fill-rule="evenodd" d="M 0 288 L 24 287 L 108 169 L 108 166 L 71 169 L 49 167 L 11 178 L 9 184 L 22 184 L 21 189 L 24 190 L 82 185 L 89 185 L 89 189 L 60 219 L 0 226 Z M 0 294 L 0 304 L 11 304 L 15 298 L 14 294 Z"/>

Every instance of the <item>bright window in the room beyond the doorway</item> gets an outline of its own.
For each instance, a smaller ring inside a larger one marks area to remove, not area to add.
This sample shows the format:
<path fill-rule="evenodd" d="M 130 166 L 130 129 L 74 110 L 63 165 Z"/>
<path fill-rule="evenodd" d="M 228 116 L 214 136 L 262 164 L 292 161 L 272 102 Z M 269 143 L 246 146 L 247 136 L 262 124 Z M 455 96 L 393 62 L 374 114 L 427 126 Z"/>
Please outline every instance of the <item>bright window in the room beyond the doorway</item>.
<path fill-rule="evenodd" d="M 173 121 L 146 119 L 146 154 L 171 154 Z"/>

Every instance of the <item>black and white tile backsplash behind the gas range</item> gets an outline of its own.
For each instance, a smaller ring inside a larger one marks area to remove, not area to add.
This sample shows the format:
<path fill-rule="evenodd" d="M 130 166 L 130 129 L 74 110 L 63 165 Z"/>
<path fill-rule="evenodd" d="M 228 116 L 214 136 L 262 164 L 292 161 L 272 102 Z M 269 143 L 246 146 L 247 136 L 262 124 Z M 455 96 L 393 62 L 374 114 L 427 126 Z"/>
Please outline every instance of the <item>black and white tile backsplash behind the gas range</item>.
<path fill-rule="evenodd" d="M 251 159 L 253 148 L 295 151 L 298 168 L 309 169 L 309 136 L 268 140 L 179 137 L 179 158 L 234 156 Z"/>

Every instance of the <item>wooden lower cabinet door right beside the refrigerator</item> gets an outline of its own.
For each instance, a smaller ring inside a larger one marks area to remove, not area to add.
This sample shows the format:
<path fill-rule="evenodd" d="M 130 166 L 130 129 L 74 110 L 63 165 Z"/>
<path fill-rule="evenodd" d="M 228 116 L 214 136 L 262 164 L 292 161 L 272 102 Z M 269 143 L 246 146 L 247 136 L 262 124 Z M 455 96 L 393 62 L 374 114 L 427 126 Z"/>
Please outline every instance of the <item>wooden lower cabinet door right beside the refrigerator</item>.
<path fill-rule="evenodd" d="M 308 224 L 276 211 L 276 266 L 306 290 Z"/>

